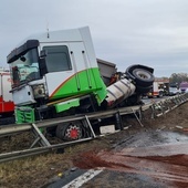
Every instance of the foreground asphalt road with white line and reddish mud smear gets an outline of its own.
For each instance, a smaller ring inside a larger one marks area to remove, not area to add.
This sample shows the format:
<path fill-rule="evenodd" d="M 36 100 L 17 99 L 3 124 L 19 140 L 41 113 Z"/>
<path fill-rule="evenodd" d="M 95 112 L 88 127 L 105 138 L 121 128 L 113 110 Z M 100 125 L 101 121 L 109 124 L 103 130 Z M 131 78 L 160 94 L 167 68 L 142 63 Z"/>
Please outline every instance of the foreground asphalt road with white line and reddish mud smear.
<path fill-rule="evenodd" d="M 125 140 L 112 152 L 83 154 L 76 168 L 48 188 L 174 188 L 177 181 L 178 187 L 188 185 L 188 167 L 182 164 L 188 159 L 187 135 L 143 132 Z"/>

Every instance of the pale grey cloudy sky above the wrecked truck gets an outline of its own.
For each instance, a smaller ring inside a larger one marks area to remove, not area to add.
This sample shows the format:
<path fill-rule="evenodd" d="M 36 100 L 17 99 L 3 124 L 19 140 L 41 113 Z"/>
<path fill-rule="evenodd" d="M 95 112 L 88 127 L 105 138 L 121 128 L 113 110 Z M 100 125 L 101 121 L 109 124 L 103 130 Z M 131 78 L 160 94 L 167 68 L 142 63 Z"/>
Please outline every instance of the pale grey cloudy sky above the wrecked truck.
<path fill-rule="evenodd" d="M 0 66 L 31 34 L 90 27 L 96 58 L 188 73 L 188 0 L 1 0 Z"/>

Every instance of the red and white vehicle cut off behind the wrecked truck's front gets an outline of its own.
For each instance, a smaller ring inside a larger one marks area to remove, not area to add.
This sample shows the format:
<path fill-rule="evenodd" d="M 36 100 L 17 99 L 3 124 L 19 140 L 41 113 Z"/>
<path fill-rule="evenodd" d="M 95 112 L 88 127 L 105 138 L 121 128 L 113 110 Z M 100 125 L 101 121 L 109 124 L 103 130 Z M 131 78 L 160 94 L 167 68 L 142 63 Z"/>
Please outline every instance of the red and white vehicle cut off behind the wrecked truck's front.
<path fill-rule="evenodd" d="M 13 116 L 14 103 L 12 100 L 11 77 L 8 69 L 0 69 L 0 119 Z"/>

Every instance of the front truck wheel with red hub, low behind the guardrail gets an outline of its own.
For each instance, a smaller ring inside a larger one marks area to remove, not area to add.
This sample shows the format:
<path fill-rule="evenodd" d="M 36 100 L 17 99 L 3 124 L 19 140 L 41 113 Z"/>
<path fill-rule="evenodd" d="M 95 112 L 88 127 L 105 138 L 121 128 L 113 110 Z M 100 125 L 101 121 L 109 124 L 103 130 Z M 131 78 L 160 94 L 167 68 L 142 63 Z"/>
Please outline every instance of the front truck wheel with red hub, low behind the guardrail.
<path fill-rule="evenodd" d="M 63 123 L 56 127 L 56 137 L 64 140 L 75 140 L 83 137 L 80 122 Z"/>

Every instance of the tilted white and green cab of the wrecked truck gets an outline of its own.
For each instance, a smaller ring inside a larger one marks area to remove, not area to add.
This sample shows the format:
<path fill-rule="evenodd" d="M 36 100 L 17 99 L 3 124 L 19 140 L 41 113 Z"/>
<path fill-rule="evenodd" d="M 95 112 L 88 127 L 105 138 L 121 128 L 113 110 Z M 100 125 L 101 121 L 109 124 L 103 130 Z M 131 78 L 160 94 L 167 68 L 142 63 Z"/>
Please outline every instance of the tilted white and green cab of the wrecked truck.
<path fill-rule="evenodd" d="M 106 96 L 87 27 L 33 35 L 7 59 L 17 122 L 49 118 L 80 106 L 85 95 L 97 105 Z"/>

